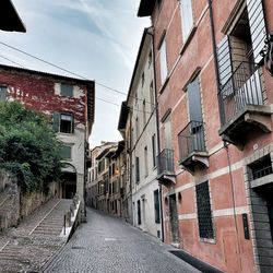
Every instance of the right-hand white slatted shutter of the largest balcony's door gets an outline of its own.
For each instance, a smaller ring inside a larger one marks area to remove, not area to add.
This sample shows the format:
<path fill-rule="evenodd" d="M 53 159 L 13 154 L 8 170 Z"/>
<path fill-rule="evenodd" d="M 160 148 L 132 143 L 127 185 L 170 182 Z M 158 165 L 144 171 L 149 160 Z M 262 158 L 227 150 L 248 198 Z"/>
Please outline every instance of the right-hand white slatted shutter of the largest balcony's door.
<path fill-rule="evenodd" d="M 262 0 L 247 0 L 247 7 L 254 62 L 260 63 L 263 59 L 260 52 L 266 38 Z"/>

